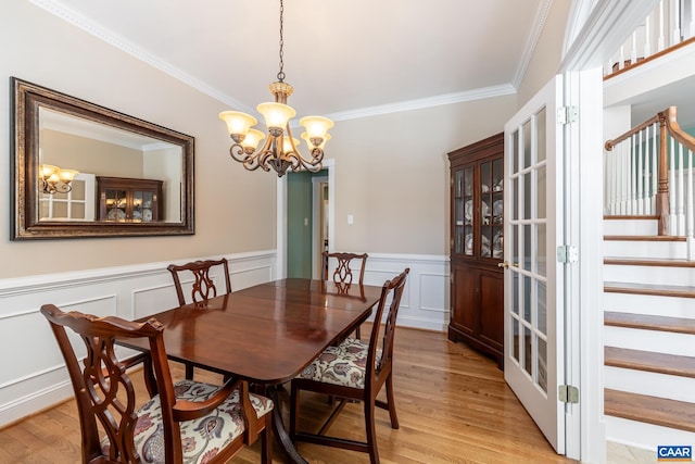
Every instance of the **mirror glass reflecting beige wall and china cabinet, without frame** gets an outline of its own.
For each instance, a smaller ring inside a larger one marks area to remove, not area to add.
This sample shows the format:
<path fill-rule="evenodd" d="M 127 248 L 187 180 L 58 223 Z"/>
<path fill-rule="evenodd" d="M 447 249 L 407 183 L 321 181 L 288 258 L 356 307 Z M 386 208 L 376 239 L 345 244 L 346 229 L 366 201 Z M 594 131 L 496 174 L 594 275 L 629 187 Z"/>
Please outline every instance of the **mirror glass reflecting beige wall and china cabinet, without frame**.
<path fill-rule="evenodd" d="M 60 166 L 79 173 L 71 183 L 71 191 L 39 195 L 39 221 L 181 221 L 180 146 L 46 108 L 39 109 L 39 166 Z M 142 187 L 134 190 L 135 204 L 128 205 L 128 181 L 114 189 L 105 180 L 99 185 L 98 179 L 103 176 L 134 179 L 131 187 L 137 184 L 135 179 L 159 181 L 161 187 L 156 190 L 161 193 Z M 142 197 L 148 204 L 139 204 Z M 94 198 L 96 208 L 86 204 L 94 202 Z M 122 204 L 101 214 L 99 206 L 103 200 L 106 208 L 115 206 L 115 202 Z M 152 214 L 153 208 L 159 214 Z"/>

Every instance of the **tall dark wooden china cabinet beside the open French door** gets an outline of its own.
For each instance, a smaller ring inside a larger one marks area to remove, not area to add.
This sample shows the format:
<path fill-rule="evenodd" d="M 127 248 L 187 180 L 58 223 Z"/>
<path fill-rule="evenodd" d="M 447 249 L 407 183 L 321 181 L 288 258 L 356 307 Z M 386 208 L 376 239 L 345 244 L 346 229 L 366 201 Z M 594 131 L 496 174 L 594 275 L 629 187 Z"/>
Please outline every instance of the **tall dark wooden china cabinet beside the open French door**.
<path fill-rule="evenodd" d="M 504 134 L 448 153 L 451 319 L 448 338 L 504 359 Z"/>

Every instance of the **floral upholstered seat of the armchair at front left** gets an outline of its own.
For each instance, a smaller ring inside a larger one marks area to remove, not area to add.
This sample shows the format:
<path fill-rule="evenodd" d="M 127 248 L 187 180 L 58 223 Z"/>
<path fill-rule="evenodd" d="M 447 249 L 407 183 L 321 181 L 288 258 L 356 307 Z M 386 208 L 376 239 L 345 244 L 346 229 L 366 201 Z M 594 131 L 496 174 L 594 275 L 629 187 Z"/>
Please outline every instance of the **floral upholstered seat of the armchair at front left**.
<path fill-rule="evenodd" d="M 218 387 L 193 380 L 182 380 L 174 385 L 176 398 L 188 401 L 204 401 Z M 273 401 L 257 394 L 250 394 L 251 404 L 258 417 L 273 410 Z M 135 430 L 135 446 L 142 463 L 164 464 L 164 430 L 162 428 L 162 407 L 160 397 L 155 396 L 137 412 L 138 423 Z M 218 450 L 244 431 L 239 404 L 239 390 L 236 390 L 215 411 L 205 417 L 180 423 L 184 463 L 204 464 Z M 102 440 L 102 449 L 109 450 L 109 439 Z"/>

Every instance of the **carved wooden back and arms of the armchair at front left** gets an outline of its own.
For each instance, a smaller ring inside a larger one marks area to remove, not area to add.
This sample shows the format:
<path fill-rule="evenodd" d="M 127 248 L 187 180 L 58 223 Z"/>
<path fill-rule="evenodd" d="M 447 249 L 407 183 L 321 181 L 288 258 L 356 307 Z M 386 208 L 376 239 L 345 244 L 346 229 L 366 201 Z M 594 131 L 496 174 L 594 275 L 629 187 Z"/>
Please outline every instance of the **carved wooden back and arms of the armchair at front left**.
<path fill-rule="evenodd" d="M 160 398 L 167 464 L 182 463 L 184 460 L 179 423 L 207 415 L 237 388 L 240 389 L 240 397 L 247 400 L 240 402 L 245 431 L 230 446 L 219 450 L 210 462 L 226 462 L 244 444 L 255 441 L 260 428 L 263 428 L 258 426 L 254 407 L 249 400 L 249 386 L 241 380 L 225 384 L 204 403 L 185 400 L 177 402 L 164 348 L 164 327 L 156 319 L 132 323 L 115 316 L 97 317 L 75 311 L 66 313 L 52 304 L 41 306 L 41 313 L 51 325 L 75 391 L 81 429 L 83 463 L 141 462 L 135 444 L 138 423 L 136 405 L 144 401 L 138 400 L 126 372 L 127 365 L 116 354 L 116 339 L 149 340 L 150 355 L 144 355 L 147 362 L 143 369 L 146 386 L 150 397 L 159 394 Z M 81 361 L 77 359 L 66 327 L 79 335 L 85 343 L 87 354 Z M 102 447 L 99 427 L 109 440 L 108 452 Z M 264 442 L 266 438 L 264 435 Z"/>

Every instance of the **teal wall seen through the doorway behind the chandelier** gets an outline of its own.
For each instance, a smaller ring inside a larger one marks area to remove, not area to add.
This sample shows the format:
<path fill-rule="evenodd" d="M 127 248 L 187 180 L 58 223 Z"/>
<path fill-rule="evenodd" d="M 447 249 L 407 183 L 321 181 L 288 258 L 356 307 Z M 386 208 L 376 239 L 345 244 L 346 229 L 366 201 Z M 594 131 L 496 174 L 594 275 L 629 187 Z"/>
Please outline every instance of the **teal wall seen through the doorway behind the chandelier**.
<path fill-rule="evenodd" d="M 287 175 L 288 277 L 312 278 L 312 176 L 307 172 Z"/>

